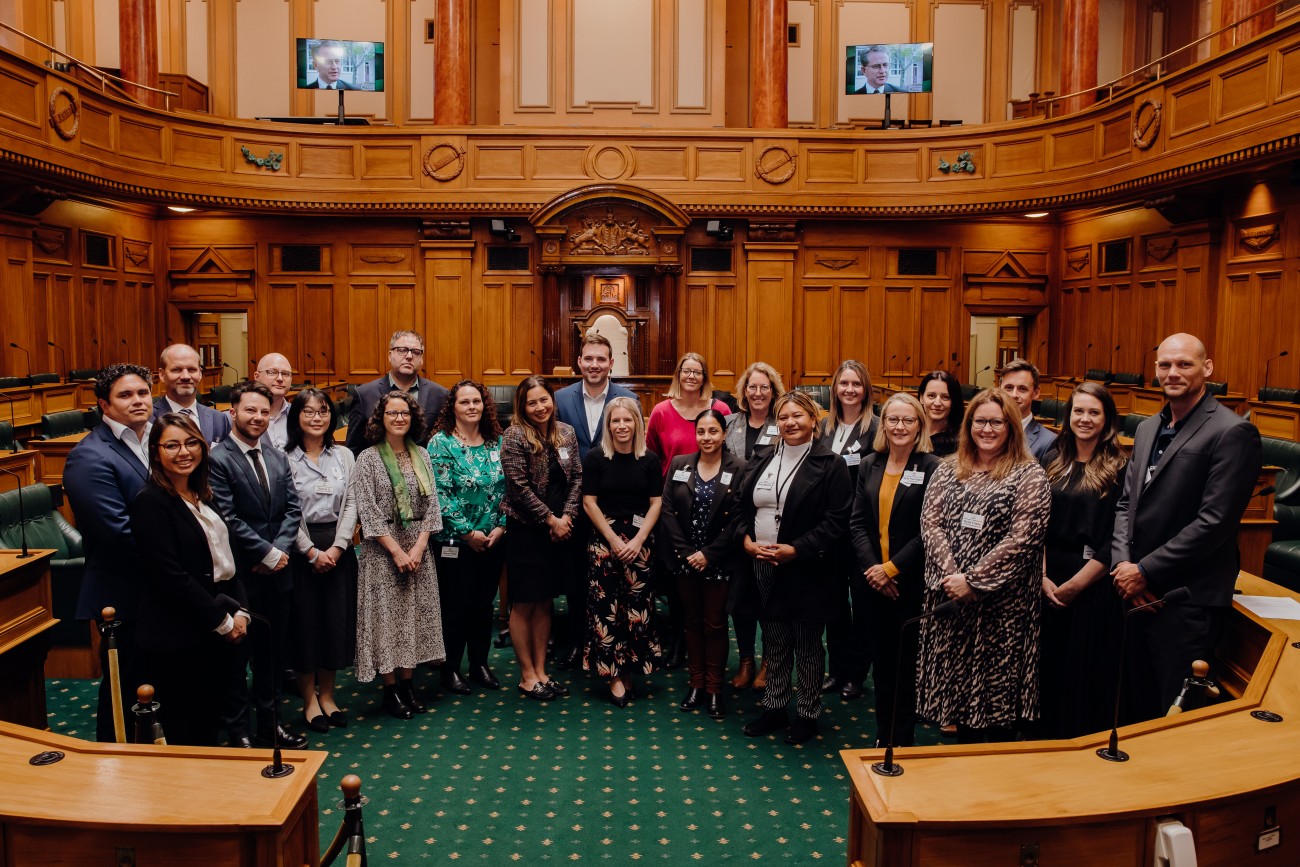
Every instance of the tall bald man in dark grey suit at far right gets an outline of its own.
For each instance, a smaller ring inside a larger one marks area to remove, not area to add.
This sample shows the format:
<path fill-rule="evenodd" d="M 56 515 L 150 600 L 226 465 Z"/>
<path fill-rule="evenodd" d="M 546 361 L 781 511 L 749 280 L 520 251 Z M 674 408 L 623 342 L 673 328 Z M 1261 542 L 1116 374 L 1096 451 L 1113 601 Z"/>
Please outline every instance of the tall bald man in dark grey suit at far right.
<path fill-rule="evenodd" d="M 1192 662 L 1213 664 L 1232 604 L 1238 526 L 1262 461 L 1260 432 L 1205 390 L 1205 344 L 1174 334 L 1156 350 L 1169 403 L 1138 426 L 1115 513 L 1110 575 L 1131 604 L 1175 588 L 1191 599 L 1132 616 L 1128 654 L 1138 719 L 1164 716 Z"/>

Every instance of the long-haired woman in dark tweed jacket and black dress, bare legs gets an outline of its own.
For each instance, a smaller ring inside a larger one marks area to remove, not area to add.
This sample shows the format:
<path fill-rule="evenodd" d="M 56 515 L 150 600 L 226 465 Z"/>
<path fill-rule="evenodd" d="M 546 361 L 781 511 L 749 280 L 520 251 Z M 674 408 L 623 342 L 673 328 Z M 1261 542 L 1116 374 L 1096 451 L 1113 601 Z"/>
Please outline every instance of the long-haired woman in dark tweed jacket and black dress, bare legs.
<path fill-rule="evenodd" d="M 564 588 L 567 546 L 582 493 L 577 434 L 555 417 L 554 395 L 540 376 L 520 382 L 515 417 L 500 445 L 510 633 L 519 660 L 519 693 L 540 702 L 569 694 L 546 675 L 546 641 L 551 599 Z"/>

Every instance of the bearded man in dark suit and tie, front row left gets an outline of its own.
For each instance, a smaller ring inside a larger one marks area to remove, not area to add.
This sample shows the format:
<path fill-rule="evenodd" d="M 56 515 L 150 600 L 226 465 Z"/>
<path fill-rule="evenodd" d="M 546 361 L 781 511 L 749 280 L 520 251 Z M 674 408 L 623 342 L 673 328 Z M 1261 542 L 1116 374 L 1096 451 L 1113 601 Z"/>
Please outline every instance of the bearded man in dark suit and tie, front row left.
<path fill-rule="evenodd" d="M 278 737 L 281 746 L 300 749 L 307 738 L 283 727 L 277 729 L 273 710 L 292 590 L 289 552 L 298 538 L 302 510 L 289 459 L 263 439 L 270 422 L 270 390 L 260 382 L 238 383 L 230 391 L 234 430 L 212 448 L 212 498 L 230 528 L 230 547 L 248 593 L 248 610 L 264 619 L 254 619 L 250 641 L 239 645 L 225 725 L 233 746 L 252 746 L 246 675 L 251 653 L 257 740 L 270 744 Z"/>

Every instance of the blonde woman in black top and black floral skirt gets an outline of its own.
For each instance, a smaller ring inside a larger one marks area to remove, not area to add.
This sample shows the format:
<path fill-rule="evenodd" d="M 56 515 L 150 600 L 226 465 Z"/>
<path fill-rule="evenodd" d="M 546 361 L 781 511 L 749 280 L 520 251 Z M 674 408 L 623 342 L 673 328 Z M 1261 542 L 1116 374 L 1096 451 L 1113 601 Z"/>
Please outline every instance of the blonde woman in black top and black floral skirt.
<path fill-rule="evenodd" d="M 607 677 L 610 701 L 625 707 L 636 692 L 632 673 L 653 673 L 662 654 L 650 533 L 659 521 L 663 472 L 659 456 L 646 451 L 636 400 L 610 400 L 602 428 L 599 447 L 582 461 L 582 508 L 592 521 L 582 667 Z"/>

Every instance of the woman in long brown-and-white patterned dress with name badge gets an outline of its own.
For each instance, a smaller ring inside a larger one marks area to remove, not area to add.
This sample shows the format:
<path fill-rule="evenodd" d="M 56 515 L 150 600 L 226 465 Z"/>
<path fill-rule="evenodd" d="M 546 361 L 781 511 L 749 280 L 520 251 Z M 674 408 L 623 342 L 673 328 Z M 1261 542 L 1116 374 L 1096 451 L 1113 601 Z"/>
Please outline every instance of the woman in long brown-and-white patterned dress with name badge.
<path fill-rule="evenodd" d="M 1052 494 L 1024 446 L 1019 408 L 985 389 L 962 420 L 956 456 L 935 472 L 922 507 L 926 610 L 956 599 L 949 619 L 920 624 L 916 711 L 956 724 L 958 741 L 1014 737 L 1039 715 L 1039 606 Z"/>

